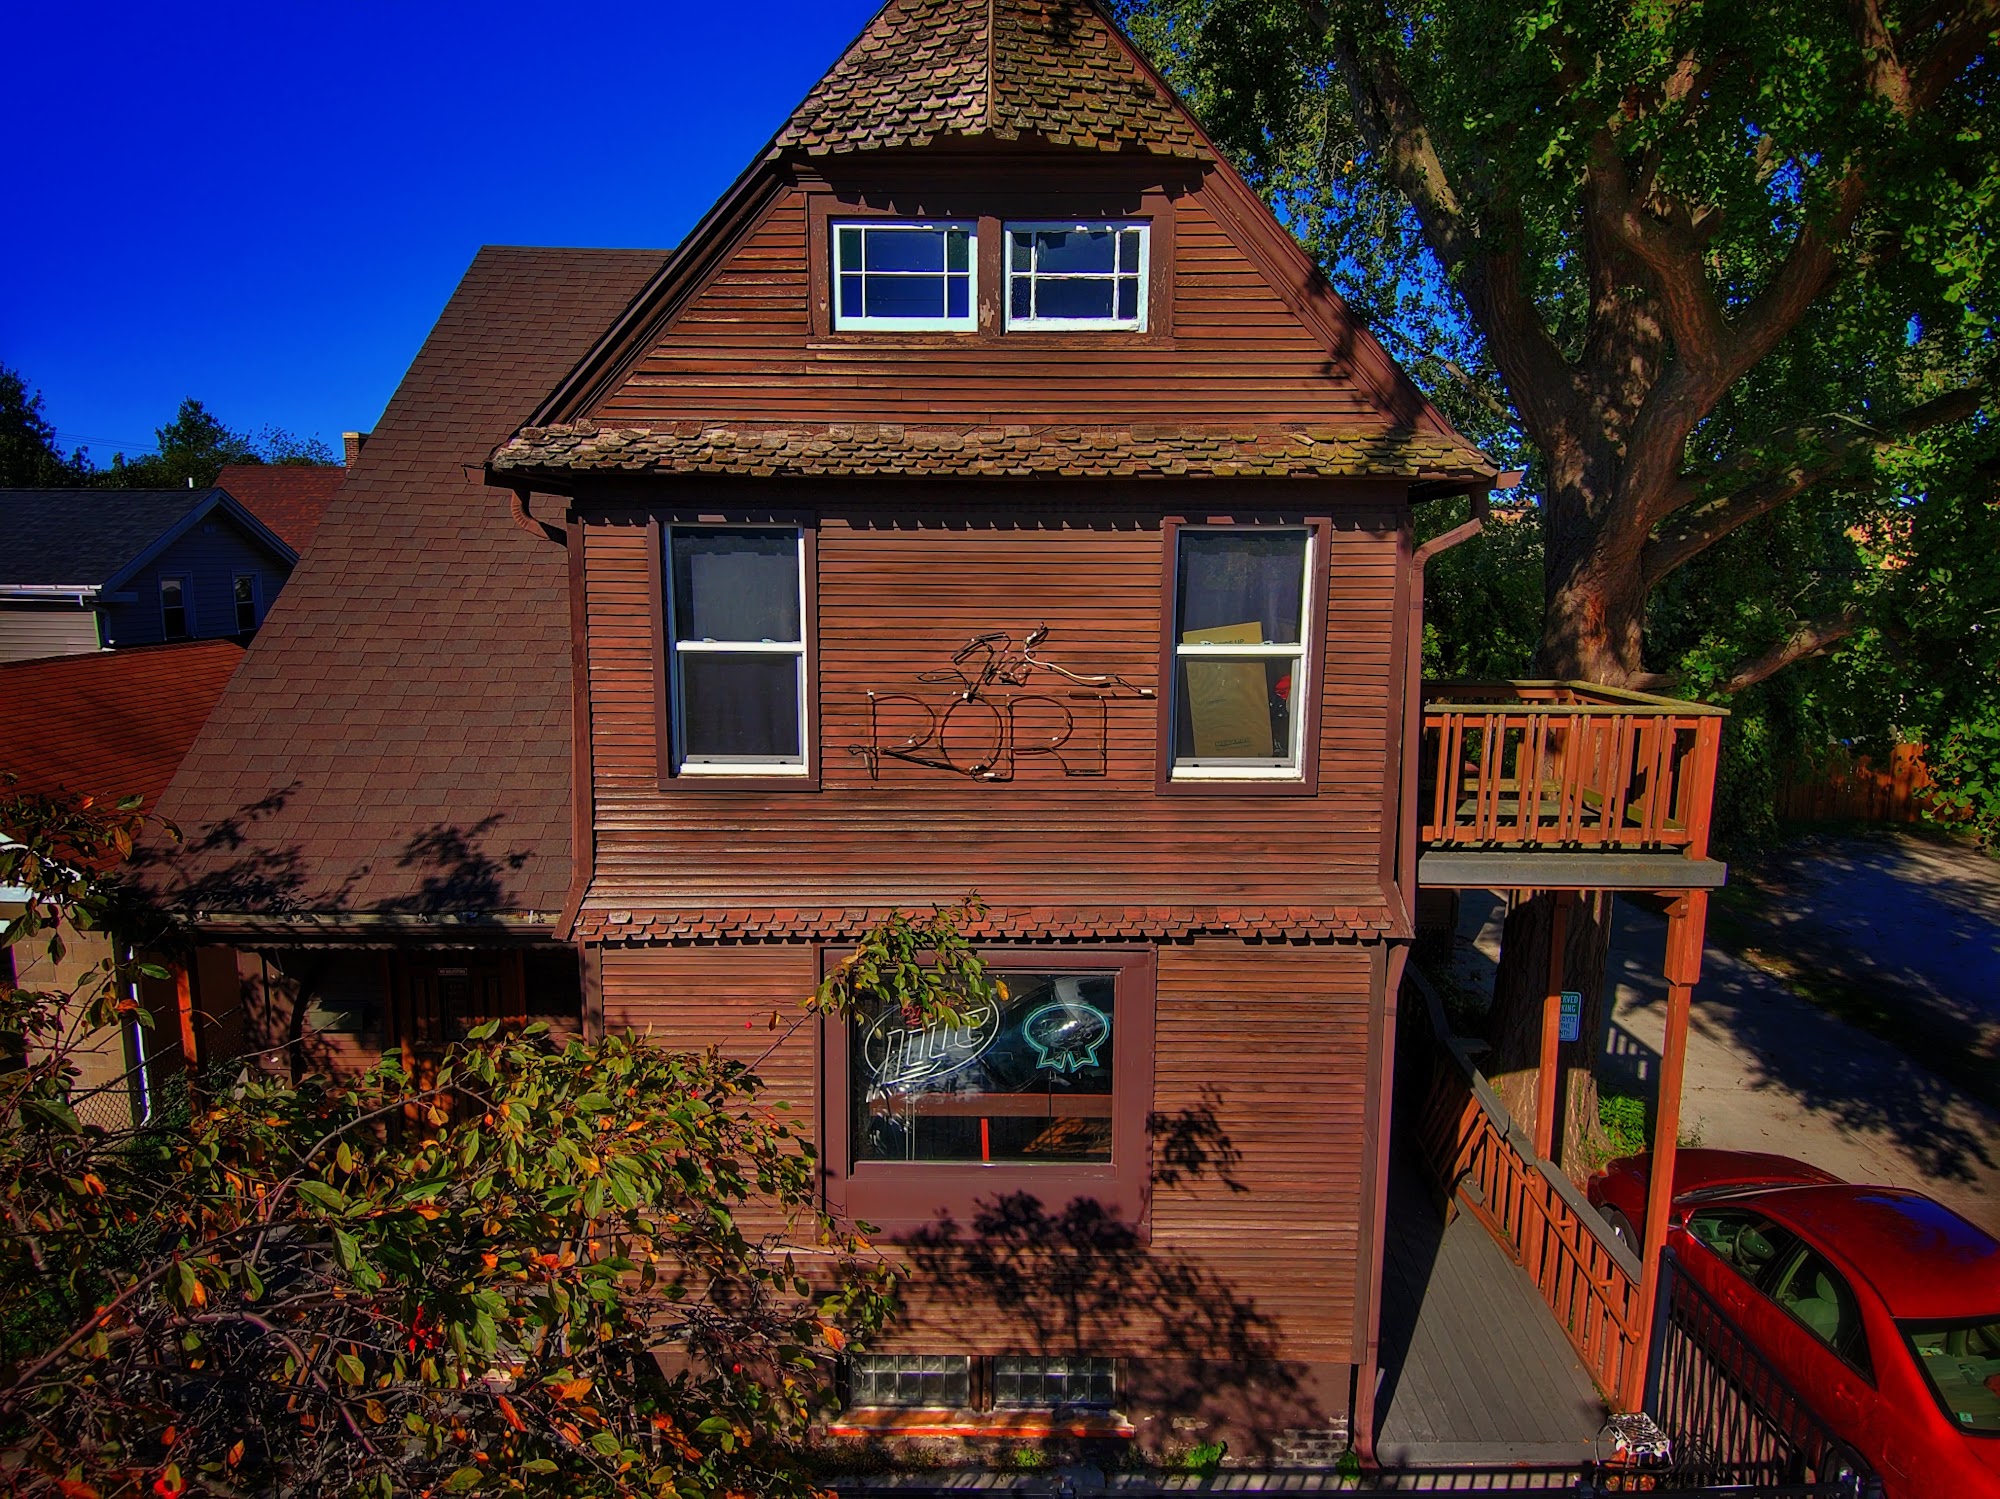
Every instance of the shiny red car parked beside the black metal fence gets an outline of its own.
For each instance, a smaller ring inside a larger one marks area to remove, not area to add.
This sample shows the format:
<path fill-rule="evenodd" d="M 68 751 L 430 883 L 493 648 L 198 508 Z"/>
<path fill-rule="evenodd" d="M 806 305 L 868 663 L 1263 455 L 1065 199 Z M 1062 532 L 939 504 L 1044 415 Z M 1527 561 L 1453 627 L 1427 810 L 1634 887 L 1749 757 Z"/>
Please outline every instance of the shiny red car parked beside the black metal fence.
<path fill-rule="evenodd" d="M 1634 1249 L 1648 1155 L 1592 1177 Z M 1678 1151 L 1668 1243 L 1890 1499 L 2000 1499 L 2000 1241 L 1900 1187 Z"/>

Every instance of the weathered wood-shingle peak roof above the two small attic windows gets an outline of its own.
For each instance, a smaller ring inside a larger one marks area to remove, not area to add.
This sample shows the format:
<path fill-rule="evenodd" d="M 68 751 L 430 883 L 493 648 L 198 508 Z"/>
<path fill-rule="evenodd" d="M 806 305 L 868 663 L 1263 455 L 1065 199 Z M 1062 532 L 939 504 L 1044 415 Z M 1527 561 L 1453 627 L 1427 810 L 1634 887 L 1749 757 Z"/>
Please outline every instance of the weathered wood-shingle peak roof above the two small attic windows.
<path fill-rule="evenodd" d="M 888 0 L 770 150 L 836 156 L 952 136 L 1214 156 L 1118 28 L 1074 0 Z"/>

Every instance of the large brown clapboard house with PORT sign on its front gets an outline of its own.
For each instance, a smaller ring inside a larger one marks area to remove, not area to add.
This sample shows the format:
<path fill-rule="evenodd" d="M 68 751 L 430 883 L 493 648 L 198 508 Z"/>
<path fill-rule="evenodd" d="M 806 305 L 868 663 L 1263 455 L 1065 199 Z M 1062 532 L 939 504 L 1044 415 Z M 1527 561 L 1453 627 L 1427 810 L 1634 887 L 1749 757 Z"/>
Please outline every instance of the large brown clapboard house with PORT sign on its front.
<path fill-rule="evenodd" d="M 1096 6 L 890 0 L 672 256 L 474 262 L 168 797 L 204 1003 L 770 1051 L 914 1267 L 840 1431 L 1340 1429 L 1492 482 Z M 968 891 L 1004 1003 L 772 1045 Z"/>

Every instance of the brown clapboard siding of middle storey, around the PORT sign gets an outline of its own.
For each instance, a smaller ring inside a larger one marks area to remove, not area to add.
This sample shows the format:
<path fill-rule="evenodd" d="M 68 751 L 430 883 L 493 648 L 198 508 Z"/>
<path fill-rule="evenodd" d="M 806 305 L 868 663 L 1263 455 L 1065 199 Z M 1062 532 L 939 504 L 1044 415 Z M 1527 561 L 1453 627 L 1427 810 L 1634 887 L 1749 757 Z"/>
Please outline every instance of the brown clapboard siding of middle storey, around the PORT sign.
<path fill-rule="evenodd" d="M 962 516 L 822 514 L 812 662 L 820 791 L 714 789 L 694 777 L 662 789 L 652 532 L 636 520 L 590 524 L 592 907 L 948 901 L 966 889 L 994 903 L 1380 903 L 1402 518 L 1390 508 L 1334 514 L 1310 797 L 1162 795 L 1158 708 L 1140 698 L 1106 708 L 1102 777 L 1024 757 L 1012 783 L 986 783 L 882 757 L 872 779 L 866 757 L 850 751 L 868 742 L 868 694 L 910 692 L 946 706 L 950 686 L 916 676 L 948 668 L 954 650 L 988 630 L 1020 640 L 1048 624 L 1048 660 L 1162 690 L 1170 602 L 1158 514 L 972 506 Z M 1092 706 L 1076 712 L 1080 736 L 1094 738 Z M 890 726 L 888 710 L 882 722 Z"/>

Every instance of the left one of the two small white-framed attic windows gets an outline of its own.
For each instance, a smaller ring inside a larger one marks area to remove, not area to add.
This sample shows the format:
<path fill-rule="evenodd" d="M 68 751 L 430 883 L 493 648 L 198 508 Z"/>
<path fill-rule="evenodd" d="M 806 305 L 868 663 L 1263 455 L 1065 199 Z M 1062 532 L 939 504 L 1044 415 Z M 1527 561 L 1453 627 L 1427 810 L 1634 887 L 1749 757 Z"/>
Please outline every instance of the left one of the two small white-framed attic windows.
<path fill-rule="evenodd" d="M 834 224 L 834 328 L 976 332 L 972 224 Z"/>

